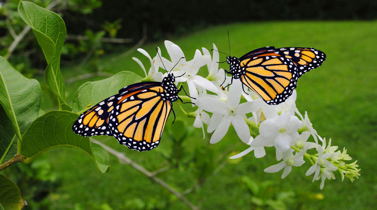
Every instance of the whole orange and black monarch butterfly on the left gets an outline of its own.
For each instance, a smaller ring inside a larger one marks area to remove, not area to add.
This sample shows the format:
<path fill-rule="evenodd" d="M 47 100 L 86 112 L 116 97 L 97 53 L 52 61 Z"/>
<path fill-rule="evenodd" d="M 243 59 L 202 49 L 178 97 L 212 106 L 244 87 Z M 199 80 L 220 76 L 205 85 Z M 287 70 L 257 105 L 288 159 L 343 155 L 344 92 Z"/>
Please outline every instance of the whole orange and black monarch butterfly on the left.
<path fill-rule="evenodd" d="M 131 150 L 152 150 L 160 143 L 171 103 L 182 101 L 178 92 L 183 86 L 177 89 L 175 78 L 169 73 L 162 82 L 140 82 L 120 89 L 118 94 L 82 113 L 73 123 L 73 132 L 114 136 Z M 175 119 L 174 111 L 173 114 Z"/>

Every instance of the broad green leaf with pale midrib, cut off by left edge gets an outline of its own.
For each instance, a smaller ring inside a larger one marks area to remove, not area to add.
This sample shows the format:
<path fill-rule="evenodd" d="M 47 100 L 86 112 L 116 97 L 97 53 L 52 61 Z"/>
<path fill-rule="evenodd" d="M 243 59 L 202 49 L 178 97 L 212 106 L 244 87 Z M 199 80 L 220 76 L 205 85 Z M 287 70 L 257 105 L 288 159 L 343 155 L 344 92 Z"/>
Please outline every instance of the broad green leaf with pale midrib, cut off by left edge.
<path fill-rule="evenodd" d="M 21 75 L 0 56 L 0 163 L 14 156 L 15 138 L 21 139 L 37 118 L 41 94 L 38 81 Z"/>

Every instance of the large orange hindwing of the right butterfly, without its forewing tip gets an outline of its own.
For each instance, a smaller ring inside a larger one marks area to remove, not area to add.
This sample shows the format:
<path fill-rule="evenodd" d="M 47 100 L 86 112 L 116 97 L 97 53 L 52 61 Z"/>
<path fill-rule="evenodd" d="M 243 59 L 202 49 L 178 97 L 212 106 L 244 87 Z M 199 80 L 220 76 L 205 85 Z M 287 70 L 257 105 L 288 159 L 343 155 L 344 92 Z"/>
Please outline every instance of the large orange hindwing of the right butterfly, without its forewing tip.
<path fill-rule="evenodd" d="M 297 66 L 278 54 L 260 54 L 240 62 L 245 70 L 241 81 L 267 104 L 284 102 L 297 85 Z"/>

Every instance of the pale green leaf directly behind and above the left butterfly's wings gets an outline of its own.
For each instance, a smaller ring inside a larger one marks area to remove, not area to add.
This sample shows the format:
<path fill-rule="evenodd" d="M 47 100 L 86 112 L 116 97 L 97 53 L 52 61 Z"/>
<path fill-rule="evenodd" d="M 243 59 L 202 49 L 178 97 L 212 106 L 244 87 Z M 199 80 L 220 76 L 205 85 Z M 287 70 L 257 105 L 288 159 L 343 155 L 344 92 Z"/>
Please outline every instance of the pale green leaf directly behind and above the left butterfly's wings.
<path fill-rule="evenodd" d="M 95 105 L 103 99 L 115 95 L 120 89 L 141 81 L 141 77 L 133 72 L 120 72 L 109 78 L 86 82 L 77 89 L 73 98 L 73 111 L 86 109 L 87 105 Z"/>

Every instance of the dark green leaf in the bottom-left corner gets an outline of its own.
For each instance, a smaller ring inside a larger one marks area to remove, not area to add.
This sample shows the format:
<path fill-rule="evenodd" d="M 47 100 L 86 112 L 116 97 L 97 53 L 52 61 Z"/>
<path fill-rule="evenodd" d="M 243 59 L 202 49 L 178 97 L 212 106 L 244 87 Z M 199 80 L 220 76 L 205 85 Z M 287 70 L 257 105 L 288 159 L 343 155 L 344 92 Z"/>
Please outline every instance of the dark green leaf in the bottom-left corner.
<path fill-rule="evenodd" d="M 0 174 L 0 209 L 20 210 L 25 205 L 17 185 Z"/>

